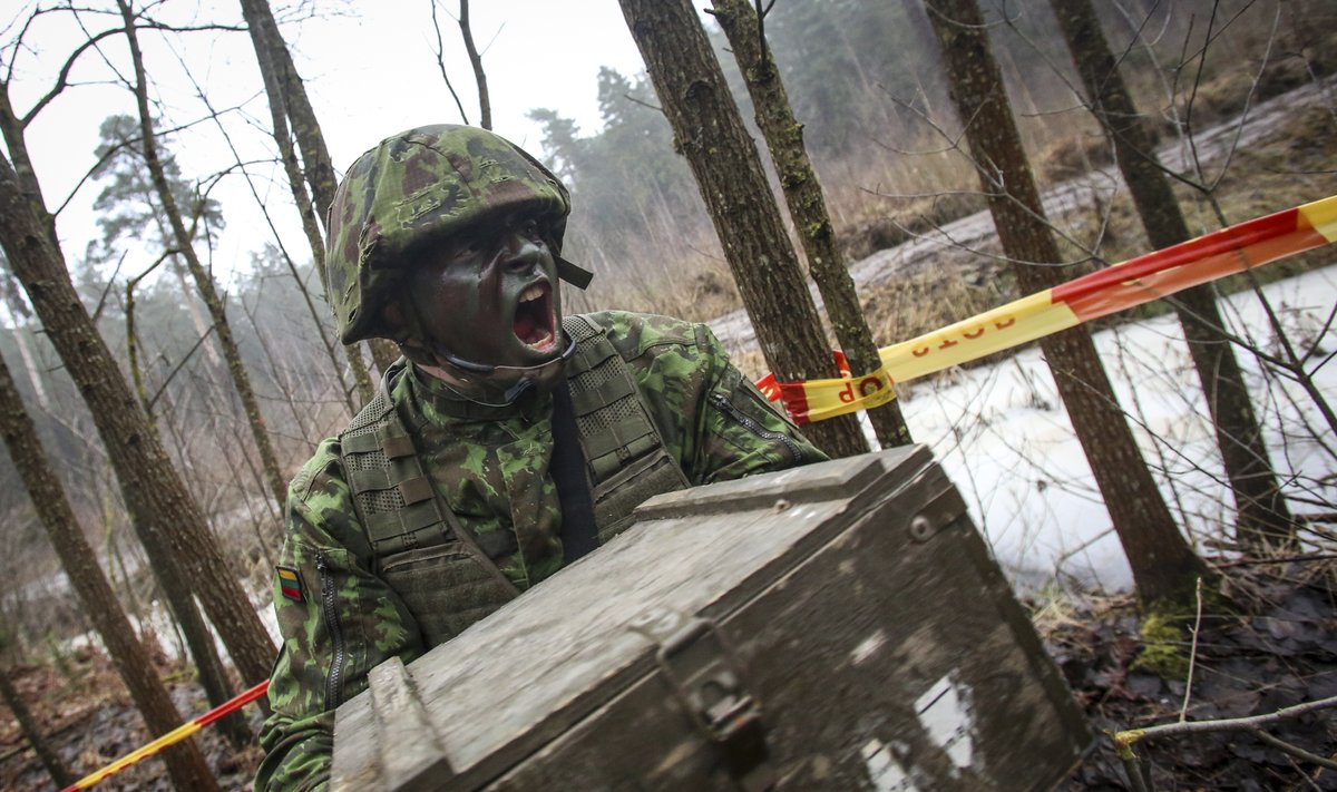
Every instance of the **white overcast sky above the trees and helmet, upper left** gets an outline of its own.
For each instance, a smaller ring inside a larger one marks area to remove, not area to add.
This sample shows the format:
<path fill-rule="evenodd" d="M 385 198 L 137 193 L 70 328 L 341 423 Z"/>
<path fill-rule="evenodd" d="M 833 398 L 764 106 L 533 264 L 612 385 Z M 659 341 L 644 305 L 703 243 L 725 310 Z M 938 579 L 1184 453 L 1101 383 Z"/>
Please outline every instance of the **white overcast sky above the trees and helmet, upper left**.
<path fill-rule="evenodd" d="M 94 5 L 103 1 L 96 0 Z M 468 119 L 477 123 L 473 74 L 459 27 L 447 13 L 455 13 L 459 1 L 439 1 L 447 70 L 465 103 Z M 115 9 L 114 3 L 106 3 Z M 17 32 L 13 20 L 25 17 L 33 5 L 23 3 L 17 12 L 0 16 L 7 47 L 3 66 L 8 68 L 11 60 L 15 62 L 11 96 L 20 114 L 49 90 L 68 54 L 86 39 L 68 15 L 47 15 L 25 36 L 29 50 L 15 56 L 9 47 Z M 340 173 L 358 154 L 393 132 L 425 123 L 461 120 L 436 63 L 431 0 L 322 0 L 305 5 L 314 5 L 322 16 L 286 23 L 283 33 L 306 79 Z M 275 4 L 281 16 L 285 8 Z M 178 24 L 241 23 L 235 0 L 166 0 L 155 16 Z M 289 11 L 286 17 L 291 16 Z M 471 17 L 475 40 L 484 51 L 493 127 L 535 153 L 540 131 L 525 119 L 525 112 L 550 107 L 575 118 L 586 134 L 594 132 L 599 128 L 599 68 L 608 66 L 628 75 L 643 68 L 616 0 L 475 0 Z M 86 15 L 83 20 L 91 31 L 119 25 L 114 15 Z M 164 126 L 193 124 L 172 138 L 174 151 L 189 178 L 207 179 L 235 162 L 218 124 L 201 123 L 207 110 L 198 98 L 199 91 L 223 114 L 242 159 L 262 158 L 273 150 L 273 143 L 263 136 L 269 128 L 269 108 L 245 32 L 201 32 L 166 40 L 144 31 L 140 39 L 147 70 L 156 83 L 154 99 L 166 118 Z M 132 95 L 118 84 L 116 72 L 131 75 L 126 52 L 124 39 L 119 36 L 103 40 L 99 51 L 86 52 L 71 75 L 78 86 L 52 102 L 29 127 L 28 144 L 52 209 L 67 199 L 92 166 L 103 118 L 135 112 Z M 247 170 L 262 201 L 282 206 L 275 215 L 286 223 L 282 233 L 289 250 L 306 260 L 308 254 L 301 254 L 303 242 L 295 213 L 287 207 L 286 185 L 277 181 L 282 174 L 269 165 Z M 82 256 L 86 242 L 96 233 L 90 206 L 99 189 L 84 185 L 57 221 L 67 256 Z M 249 261 L 250 250 L 261 248 L 269 230 L 239 174 L 225 177 L 211 195 L 222 201 L 229 223 L 225 243 L 214 260 L 226 278 L 225 273 Z"/>

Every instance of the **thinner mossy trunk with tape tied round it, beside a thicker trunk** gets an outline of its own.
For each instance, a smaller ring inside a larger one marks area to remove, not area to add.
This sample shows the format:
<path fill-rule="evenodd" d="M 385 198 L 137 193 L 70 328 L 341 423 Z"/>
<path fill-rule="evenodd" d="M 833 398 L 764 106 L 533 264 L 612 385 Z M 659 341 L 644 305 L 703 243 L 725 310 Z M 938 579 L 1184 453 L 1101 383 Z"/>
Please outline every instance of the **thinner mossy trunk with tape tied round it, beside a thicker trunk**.
<path fill-rule="evenodd" d="M 766 138 L 766 147 L 789 205 L 789 217 L 798 229 L 804 253 L 808 254 L 808 269 L 822 294 L 836 338 L 852 373 L 872 373 L 882 367 L 882 359 L 858 302 L 854 278 L 845 269 L 845 257 L 826 211 L 822 185 L 808 158 L 804 124 L 794 119 L 789 94 L 770 55 L 762 27 L 763 17 L 753 8 L 751 0 L 711 0 L 711 5 L 738 60 L 738 71 L 747 83 L 757 126 Z M 868 419 L 884 448 L 912 443 L 898 401 L 869 409 Z"/>

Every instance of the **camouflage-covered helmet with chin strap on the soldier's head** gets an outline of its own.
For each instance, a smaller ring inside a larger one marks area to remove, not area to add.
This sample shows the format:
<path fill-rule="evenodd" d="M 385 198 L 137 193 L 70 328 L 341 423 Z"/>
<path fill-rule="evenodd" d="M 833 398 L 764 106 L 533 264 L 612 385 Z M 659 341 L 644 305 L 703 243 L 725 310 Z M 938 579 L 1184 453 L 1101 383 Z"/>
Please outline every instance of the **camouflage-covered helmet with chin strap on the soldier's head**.
<path fill-rule="evenodd" d="M 590 273 L 560 257 L 567 189 L 519 146 L 488 130 L 436 124 L 358 157 L 326 222 L 326 288 L 340 338 L 390 337 L 381 309 L 396 298 L 413 253 L 516 210 L 548 221 L 558 276 L 583 289 Z"/>

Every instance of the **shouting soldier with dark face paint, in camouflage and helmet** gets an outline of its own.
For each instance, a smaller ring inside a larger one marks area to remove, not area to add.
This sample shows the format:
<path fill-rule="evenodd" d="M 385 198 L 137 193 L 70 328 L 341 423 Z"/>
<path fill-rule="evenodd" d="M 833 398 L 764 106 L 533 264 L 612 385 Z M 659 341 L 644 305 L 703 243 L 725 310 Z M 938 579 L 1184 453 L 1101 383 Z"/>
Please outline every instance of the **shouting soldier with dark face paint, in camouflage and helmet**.
<path fill-rule="evenodd" d="M 591 277 L 560 257 L 568 211 L 537 161 L 463 126 L 394 135 L 340 185 L 340 336 L 404 357 L 291 482 L 258 791 L 324 787 L 334 708 L 373 666 L 449 641 L 646 498 L 825 459 L 705 325 L 563 318 L 558 280 Z"/>

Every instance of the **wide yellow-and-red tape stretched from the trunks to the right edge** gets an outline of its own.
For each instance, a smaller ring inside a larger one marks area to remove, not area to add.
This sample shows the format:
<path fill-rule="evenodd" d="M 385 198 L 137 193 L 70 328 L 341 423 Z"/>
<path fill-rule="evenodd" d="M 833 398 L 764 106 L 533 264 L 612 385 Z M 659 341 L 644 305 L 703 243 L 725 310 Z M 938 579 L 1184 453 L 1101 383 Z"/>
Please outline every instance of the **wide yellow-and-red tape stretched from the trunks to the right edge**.
<path fill-rule="evenodd" d="M 757 387 L 806 424 L 869 409 L 905 383 L 1017 346 L 1094 318 L 1337 241 L 1337 195 L 1225 227 L 1023 297 L 940 330 L 878 351 L 881 368 L 852 377 Z M 840 359 L 844 360 L 844 359 Z"/>

